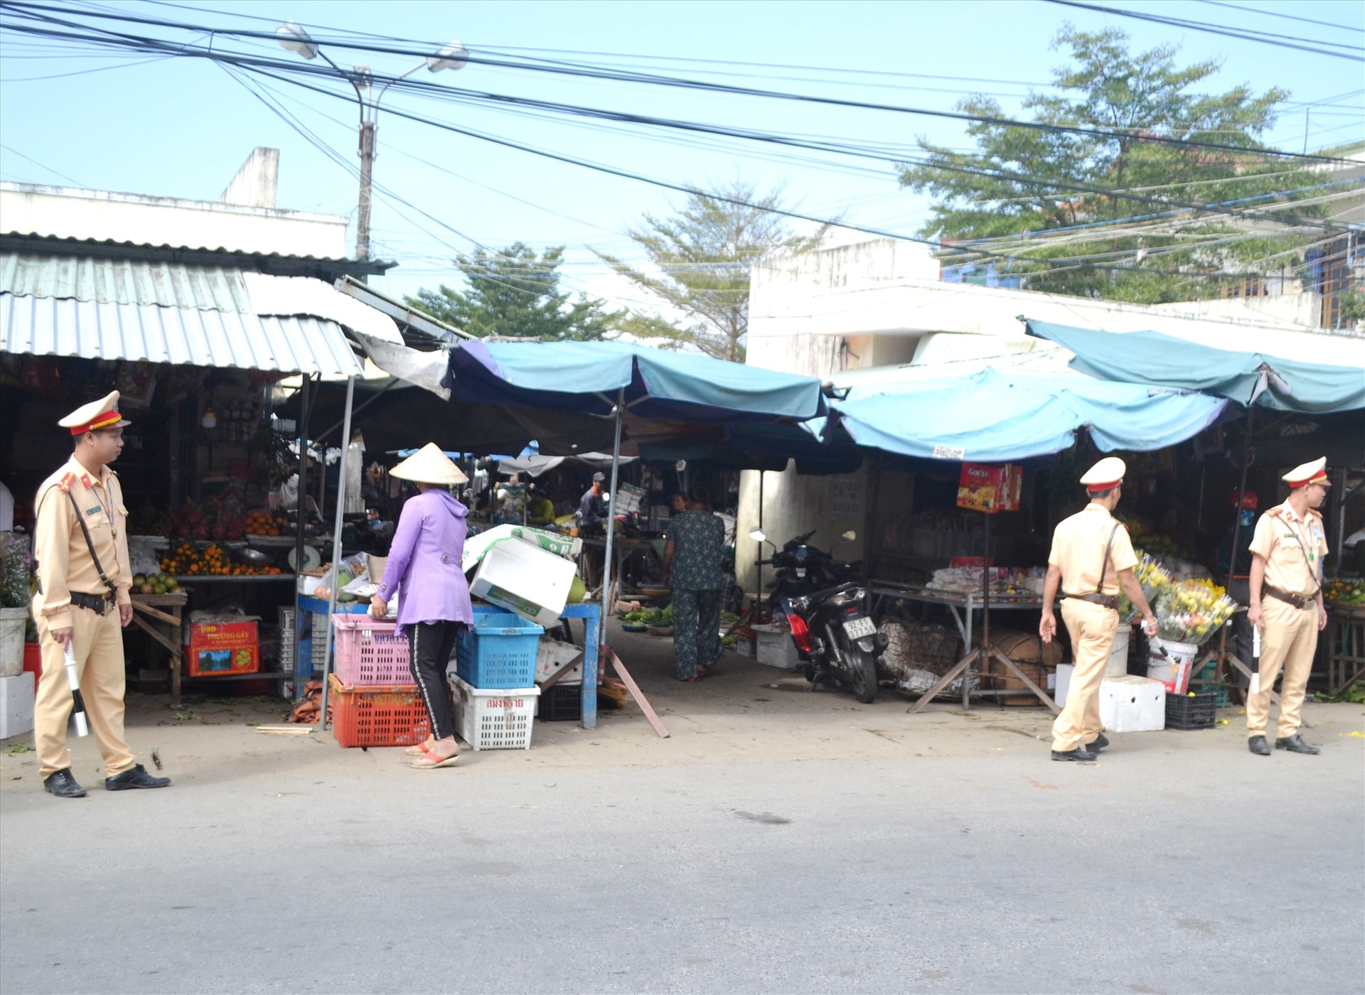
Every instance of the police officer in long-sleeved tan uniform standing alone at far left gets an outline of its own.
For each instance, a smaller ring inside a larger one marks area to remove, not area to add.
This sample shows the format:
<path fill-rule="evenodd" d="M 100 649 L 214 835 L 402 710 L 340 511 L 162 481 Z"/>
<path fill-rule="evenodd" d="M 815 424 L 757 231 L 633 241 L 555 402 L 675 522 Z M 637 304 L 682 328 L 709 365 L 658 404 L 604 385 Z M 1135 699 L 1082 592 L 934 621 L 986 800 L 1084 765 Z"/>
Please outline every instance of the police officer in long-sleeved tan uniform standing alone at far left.
<path fill-rule="evenodd" d="M 64 654 L 75 651 L 86 718 L 104 758 L 105 788 L 165 788 L 139 763 L 123 740 L 123 633 L 132 621 L 132 573 L 128 568 L 128 509 L 123 489 L 108 464 L 123 452 L 119 392 L 76 408 L 57 422 L 71 431 L 75 449 L 57 472 L 42 482 L 34 501 L 33 554 L 38 594 L 33 617 L 38 625 L 42 677 L 34 704 L 34 738 L 44 788 L 63 798 L 85 797 L 71 775 L 67 719 L 72 696 Z"/>

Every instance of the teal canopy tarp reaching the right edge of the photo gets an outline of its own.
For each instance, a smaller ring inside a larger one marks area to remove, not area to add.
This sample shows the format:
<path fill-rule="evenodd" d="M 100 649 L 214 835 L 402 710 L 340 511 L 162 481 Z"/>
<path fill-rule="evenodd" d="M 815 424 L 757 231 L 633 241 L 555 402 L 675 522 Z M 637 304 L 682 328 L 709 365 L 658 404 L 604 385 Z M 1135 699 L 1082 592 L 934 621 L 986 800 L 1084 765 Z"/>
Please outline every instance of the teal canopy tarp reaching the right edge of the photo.
<path fill-rule="evenodd" d="M 1188 343 L 1160 332 L 1095 332 L 1025 318 L 1031 336 L 1076 354 L 1072 367 L 1123 384 L 1158 384 L 1276 411 L 1323 414 L 1365 408 L 1365 369 L 1304 363 L 1261 352 Z"/>

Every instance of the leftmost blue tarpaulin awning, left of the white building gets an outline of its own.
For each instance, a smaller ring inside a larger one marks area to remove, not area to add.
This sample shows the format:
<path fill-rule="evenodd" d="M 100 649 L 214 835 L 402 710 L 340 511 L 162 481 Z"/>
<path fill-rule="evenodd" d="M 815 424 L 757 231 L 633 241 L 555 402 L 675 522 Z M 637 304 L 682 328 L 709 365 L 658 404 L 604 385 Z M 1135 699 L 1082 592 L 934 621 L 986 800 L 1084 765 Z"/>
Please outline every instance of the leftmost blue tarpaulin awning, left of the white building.
<path fill-rule="evenodd" d="M 463 343 L 445 386 L 461 401 L 609 415 L 621 392 L 643 418 L 805 420 L 826 414 L 820 381 L 629 343 Z"/>

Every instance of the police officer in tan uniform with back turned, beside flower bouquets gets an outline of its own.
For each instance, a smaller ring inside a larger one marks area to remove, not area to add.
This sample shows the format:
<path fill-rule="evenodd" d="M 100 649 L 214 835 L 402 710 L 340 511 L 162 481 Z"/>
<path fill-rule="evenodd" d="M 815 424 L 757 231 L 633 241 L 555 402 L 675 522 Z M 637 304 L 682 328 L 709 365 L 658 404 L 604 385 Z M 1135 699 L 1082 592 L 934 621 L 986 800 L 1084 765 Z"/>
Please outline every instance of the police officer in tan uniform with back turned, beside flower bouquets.
<path fill-rule="evenodd" d="M 1123 494 L 1125 472 L 1127 467 L 1117 456 L 1091 467 L 1081 478 L 1091 502 L 1058 523 L 1052 534 L 1037 632 L 1044 643 L 1052 641 L 1057 635 L 1052 601 L 1058 590 L 1063 591 L 1062 621 L 1076 655 L 1066 704 L 1052 723 L 1054 760 L 1093 760 L 1108 745 L 1100 726 L 1099 691 L 1118 632 L 1119 586 L 1143 613 L 1147 635 L 1156 635 L 1156 616 L 1133 573 L 1137 566 L 1133 540 L 1112 515 Z"/>

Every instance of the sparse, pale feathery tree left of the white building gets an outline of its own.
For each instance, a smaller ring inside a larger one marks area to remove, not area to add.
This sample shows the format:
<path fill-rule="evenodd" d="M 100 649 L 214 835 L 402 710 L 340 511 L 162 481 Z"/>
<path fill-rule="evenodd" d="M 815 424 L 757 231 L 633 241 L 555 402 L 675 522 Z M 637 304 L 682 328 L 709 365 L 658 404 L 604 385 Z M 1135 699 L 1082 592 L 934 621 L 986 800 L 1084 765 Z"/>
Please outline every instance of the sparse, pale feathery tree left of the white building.
<path fill-rule="evenodd" d="M 692 323 L 678 328 L 662 318 L 636 315 L 625 330 L 659 337 L 674 347 L 693 345 L 708 356 L 744 362 L 749 328 L 749 268 L 768 257 L 819 247 L 827 227 L 815 235 L 794 235 L 781 214 L 781 190 L 759 197 L 752 184 L 732 183 L 722 195 L 699 190 L 672 217 L 646 214 L 627 232 L 644 250 L 659 274 L 646 273 L 598 253 L 621 276 L 687 314 Z M 733 203 L 741 201 L 743 203 Z"/>

